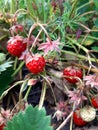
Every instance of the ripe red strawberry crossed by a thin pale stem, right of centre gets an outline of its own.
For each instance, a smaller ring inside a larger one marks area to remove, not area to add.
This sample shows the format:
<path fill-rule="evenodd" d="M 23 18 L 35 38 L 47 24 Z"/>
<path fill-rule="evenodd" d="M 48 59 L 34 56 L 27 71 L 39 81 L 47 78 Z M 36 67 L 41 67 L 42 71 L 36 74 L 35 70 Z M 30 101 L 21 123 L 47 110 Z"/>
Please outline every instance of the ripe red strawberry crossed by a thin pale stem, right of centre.
<path fill-rule="evenodd" d="M 82 78 L 82 71 L 78 67 L 69 66 L 64 69 L 63 76 L 65 76 L 65 79 L 70 83 L 76 83 L 78 81 L 76 77 Z"/>

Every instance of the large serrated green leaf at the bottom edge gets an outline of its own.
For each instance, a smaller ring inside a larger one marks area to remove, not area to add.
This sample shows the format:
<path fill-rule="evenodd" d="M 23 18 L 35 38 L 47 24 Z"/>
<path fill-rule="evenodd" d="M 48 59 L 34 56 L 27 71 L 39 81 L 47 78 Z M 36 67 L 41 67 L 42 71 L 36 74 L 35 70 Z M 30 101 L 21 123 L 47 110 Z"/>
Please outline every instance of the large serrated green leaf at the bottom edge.
<path fill-rule="evenodd" d="M 4 130 L 52 130 L 50 116 L 46 116 L 44 108 L 29 105 L 25 111 L 19 112 L 7 123 Z"/>

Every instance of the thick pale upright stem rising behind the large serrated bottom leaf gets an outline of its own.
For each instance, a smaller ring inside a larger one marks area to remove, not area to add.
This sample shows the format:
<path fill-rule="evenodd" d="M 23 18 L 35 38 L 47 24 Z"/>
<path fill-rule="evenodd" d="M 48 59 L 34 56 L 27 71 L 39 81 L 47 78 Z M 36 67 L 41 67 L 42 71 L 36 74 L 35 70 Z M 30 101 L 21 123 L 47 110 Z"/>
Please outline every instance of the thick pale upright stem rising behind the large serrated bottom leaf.
<path fill-rule="evenodd" d="M 41 109 L 44 104 L 45 94 L 46 94 L 46 82 L 44 81 L 42 86 L 41 97 L 39 101 L 39 109 Z"/>

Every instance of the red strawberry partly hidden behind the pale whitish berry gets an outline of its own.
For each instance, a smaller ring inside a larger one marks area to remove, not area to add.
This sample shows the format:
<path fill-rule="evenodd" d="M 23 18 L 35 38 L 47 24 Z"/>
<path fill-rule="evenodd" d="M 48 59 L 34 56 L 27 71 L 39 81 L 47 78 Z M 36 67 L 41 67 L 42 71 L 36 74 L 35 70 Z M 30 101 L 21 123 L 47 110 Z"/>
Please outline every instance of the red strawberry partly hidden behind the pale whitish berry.
<path fill-rule="evenodd" d="M 80 116 L 80 109 L 76 110 L 74 113 L 73 113 L 73 121 L 74 121 L 74 124 L 78 125 L 78 126 L 84 126 L 87 124 L 86 121 L 84 121 L 81 116 Z"/>

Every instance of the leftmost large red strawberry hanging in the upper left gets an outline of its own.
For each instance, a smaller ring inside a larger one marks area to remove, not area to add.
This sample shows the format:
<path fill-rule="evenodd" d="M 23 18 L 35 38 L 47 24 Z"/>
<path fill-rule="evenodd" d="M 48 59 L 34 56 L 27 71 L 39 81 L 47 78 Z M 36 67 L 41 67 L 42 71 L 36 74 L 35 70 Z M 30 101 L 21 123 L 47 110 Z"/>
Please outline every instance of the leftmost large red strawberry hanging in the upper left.
<path fill-rule="evenodd" d="M 7 50 L 11 55 L 20 57 L 22 52 L 26 50 L 23 38 L 21 36 L 12 37 L 8 41 Z"/>

